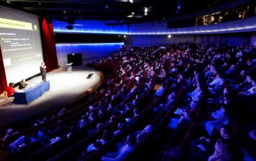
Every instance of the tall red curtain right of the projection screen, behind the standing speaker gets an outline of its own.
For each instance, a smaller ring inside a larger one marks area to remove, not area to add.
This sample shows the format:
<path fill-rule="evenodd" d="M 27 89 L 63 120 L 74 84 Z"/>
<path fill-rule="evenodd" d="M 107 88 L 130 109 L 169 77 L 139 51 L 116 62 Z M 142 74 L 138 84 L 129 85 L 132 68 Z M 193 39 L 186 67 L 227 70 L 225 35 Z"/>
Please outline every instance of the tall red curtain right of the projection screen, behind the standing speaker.
<path fill-rule="evenodd" d="M 58 68 L 55 38 L 53 34 L 53 22 L 51 19 L 42 19 L 42 50 L 44 52 L 44 63 L 46 71 L 50 72 Z"/>

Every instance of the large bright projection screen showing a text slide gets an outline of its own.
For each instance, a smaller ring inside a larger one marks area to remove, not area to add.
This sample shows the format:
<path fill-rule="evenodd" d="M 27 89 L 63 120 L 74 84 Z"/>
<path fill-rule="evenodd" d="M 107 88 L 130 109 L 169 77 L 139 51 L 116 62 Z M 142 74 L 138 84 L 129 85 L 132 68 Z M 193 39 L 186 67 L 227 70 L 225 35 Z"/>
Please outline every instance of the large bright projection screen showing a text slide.
<path fill-rule="evenodd" d="M 40 72 L 43 61 L 37 15 L 0 5 L 0 46 L 7 83 Z"/>

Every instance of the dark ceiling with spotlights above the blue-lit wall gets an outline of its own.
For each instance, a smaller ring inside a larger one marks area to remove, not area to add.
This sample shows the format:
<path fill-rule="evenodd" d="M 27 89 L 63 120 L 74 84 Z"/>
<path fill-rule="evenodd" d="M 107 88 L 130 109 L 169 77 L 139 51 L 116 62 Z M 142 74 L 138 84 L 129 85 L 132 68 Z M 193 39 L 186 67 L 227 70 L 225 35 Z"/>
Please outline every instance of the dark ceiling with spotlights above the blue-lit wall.
<path fill-rule="evenodd" d="M 54 0 L 1 1 L 22 7 L 40 15 L 70 21 L 72 19 L 99 19 L 120 23 L 137 23 L 168 18 L 172 15 L 207 9 L 223 0 Z M 145 7 L 148 13 L 145 14 Z"/>

